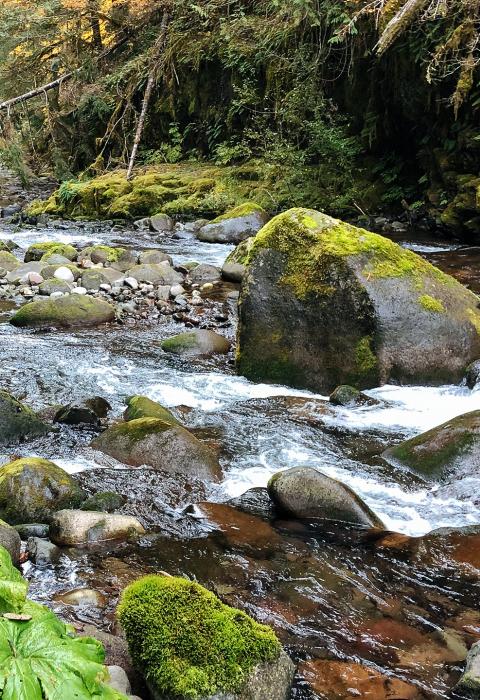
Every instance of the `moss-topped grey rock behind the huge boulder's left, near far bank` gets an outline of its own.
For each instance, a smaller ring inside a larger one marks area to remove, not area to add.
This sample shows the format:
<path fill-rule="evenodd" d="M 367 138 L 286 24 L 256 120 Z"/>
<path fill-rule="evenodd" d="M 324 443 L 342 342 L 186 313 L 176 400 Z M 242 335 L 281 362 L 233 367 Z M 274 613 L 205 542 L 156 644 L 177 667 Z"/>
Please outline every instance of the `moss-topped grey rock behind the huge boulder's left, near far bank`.
<path fill-rule="evenodd" d="M 268 219 L 267 212 L 258 204 L 241 204 L 202 226 L 196 235 L 207 243 L 240 243 L 255 236 Z"/>

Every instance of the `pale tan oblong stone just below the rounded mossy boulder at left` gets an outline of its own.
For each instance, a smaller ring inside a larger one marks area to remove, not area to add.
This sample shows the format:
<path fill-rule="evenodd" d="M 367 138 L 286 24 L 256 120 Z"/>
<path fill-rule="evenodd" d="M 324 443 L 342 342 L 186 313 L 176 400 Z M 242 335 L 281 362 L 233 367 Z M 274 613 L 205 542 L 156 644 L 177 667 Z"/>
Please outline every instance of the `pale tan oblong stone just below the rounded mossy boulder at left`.
<path fill-rule="evenodd" d="M 61 546 L 126 540 L 132 535 L 143 534 L 143 526 L 130 515 L 60 510 L 53 514 L 50 522 L 50 539 Z"/>

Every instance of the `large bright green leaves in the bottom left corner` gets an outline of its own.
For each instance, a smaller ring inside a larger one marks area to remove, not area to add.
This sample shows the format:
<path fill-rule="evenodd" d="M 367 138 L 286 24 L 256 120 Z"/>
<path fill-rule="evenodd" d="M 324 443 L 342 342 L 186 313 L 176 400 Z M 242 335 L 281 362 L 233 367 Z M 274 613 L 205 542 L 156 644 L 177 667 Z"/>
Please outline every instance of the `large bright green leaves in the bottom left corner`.
<path fill-rule="evenodd" d="M 126 700 L 105 685 L 100 642 L 76 637 L 48 608 L 27 600 L 27 588 L 0 547 L 0 698 Z"/>

